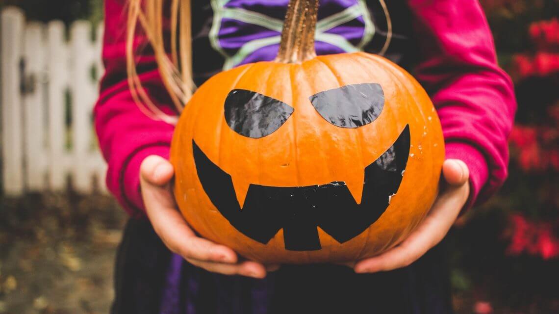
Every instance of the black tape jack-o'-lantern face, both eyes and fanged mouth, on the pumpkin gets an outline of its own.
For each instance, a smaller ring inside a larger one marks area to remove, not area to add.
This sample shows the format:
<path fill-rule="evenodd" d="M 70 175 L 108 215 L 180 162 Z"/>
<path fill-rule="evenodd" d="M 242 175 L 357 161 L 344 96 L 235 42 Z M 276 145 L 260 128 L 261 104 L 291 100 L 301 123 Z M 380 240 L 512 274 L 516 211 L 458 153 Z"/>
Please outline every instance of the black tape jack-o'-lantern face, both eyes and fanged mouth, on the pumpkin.
<path fill-rule="evenodd" d="M 309 104 L 330 124 L 359 128 L 378 118 L 385 104 L 378 83 L 345 85 L 309 97 Z M 235 89 L 225 99 L 225 121 L 241 136 L 272 136 L 294 113 L 293 107 L 258 92 Z M 335 132 L 335 130 L 333 130 Z M 231 176 L 192 141 L 198 178 L 212 204 L 231 225 L 262 244 L 283 228 L 286 250 L 320 250 L 320 227 L 339 243 L 367 229 L 385 212 L 408 161 L 410 130 L 363 168 L 363 184 L 349 190 L 345 181 L 313 185 L 249 185 L 236 195 Z M 360 181 L 361 182 L 361 181 Z M 294 184 L 296 182 L 293 182 Z M 361 198 L 357 200 L 356 198 Z M 244 199 L 242 203 L 239 200 Z"/>

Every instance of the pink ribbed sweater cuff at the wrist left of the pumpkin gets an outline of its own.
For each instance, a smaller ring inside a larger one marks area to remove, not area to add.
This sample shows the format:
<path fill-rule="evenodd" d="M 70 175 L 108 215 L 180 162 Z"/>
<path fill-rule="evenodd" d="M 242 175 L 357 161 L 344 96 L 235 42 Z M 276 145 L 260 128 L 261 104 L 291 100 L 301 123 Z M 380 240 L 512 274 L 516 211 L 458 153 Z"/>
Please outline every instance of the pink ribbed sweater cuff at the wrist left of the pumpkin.
<path fill-rule="evenodd" d="M 127 208 L 127 212 L 134 218 L 145 216 L 144 201 L 140 192 L 140 165 L 150 155 L 158 155 L 168 160 L 169 146 L 149 146 L 136 152 L 125 165 L 125 171 L 120 178 L 122 197 L 130 207 Z"/>

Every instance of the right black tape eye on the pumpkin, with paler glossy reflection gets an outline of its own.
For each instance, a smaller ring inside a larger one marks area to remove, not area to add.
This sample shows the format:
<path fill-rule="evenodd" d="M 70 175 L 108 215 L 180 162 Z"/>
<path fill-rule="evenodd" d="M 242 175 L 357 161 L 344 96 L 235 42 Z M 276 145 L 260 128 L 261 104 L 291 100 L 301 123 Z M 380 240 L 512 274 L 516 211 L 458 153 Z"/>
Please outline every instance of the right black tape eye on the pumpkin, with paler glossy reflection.
<path fill-rule="evenodd" d="M 358 128 L 378 118 L 384 107 L 384 92 L 377 83 L 346 85 L 309 97 L 316 111 L 331 124 Z"/>

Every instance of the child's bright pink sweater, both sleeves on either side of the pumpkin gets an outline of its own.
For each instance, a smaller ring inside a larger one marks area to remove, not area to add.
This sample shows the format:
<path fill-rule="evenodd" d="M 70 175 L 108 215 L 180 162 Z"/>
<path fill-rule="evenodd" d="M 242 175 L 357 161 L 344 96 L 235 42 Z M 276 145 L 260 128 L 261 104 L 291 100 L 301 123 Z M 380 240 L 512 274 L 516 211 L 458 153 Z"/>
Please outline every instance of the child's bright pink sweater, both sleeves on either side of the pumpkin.
<path fill-rule="evenodd" d="M 491 32 L 479 2 L 409 0 L 408 5 L 419 47 L 419 62 L 413 74 L 437 108 L 447 158 L 460 159 L 470 168 L 471 195 L 466 207 L 480 204 L 495 193 L 507 176 L 506 139 L 516 109 L 512 83 L 497 64 Z M 126 82 L 124 10 L 124 0 L 106 0 L 106 73 L 94 119 L 108 162 L 108 189 L 130 215 L 141 217 L 144 209 L 139 190 L 140 163 L 150 154 L 168 158 L 173 125 L 148 118 L 132 100 Z M 135 40 L 137 47 L 146 43 L 140 35 Z M 149 49 L 139 57 L 138 68 L 154 102 L 172 113 Z"/>

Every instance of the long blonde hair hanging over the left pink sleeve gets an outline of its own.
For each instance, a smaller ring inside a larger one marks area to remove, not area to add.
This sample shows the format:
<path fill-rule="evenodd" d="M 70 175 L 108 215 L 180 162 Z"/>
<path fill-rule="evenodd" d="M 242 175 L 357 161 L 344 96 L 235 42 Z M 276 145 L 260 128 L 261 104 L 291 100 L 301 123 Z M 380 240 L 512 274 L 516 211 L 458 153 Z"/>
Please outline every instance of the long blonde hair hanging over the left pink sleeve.
<path fill-rule="evenodd" d="M 170 1 L 170 57 L 165 51 L 163 12 L 166 0 L 128 0 L 126 68 L 128 84 L 136 104 L 151 118 L 175 124 L 177 116 L 168 115 L 151 101 L 136 71 L 134 38 L 138 25 L 153 47 L 160 76 L 174 106 L 180 113 L 192 96 L 192 35 L 190 0 Z M 177 46 L 178 45 L 178 46 Z"/>

